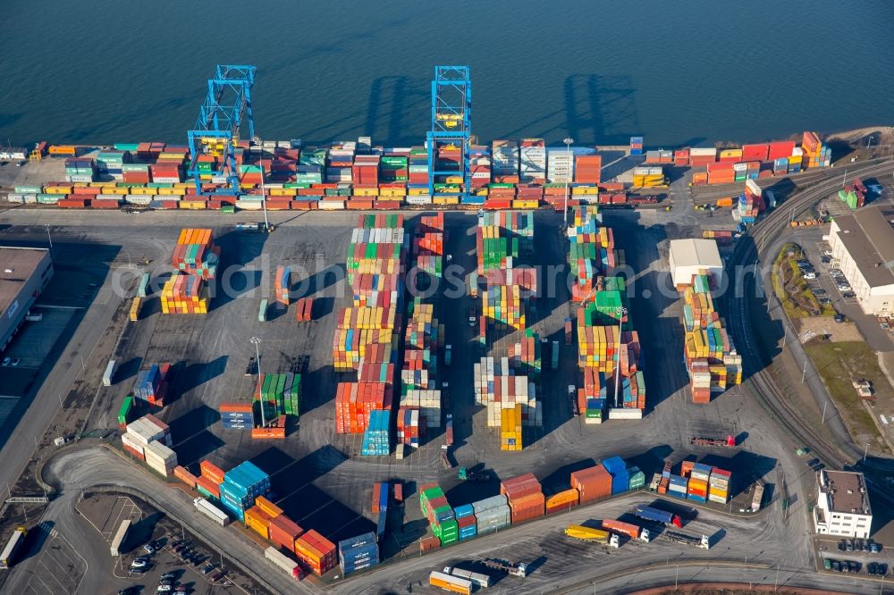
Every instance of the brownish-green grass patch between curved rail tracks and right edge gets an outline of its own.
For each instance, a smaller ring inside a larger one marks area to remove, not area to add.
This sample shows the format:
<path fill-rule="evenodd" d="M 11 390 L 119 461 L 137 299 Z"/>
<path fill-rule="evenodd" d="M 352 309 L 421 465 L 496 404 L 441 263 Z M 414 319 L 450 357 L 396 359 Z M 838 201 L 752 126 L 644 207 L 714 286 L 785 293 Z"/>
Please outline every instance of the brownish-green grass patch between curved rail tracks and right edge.
<path fill-rule="evenodd" d="M 865 379 L 873 382 L 873 389 L 879 398 L 892 396 L 894 389 L 881 372 L 875 352 L 863 341 L 832 343 L 813 339 L 804 348 L 814 360 L 822 383 L 838 406 L 856 444 L 873 440 L 877 446 L 880 445 L 881 435 L 873 417 L 866 411 L 862 399 L 851 385 L 852 381 Z"/>

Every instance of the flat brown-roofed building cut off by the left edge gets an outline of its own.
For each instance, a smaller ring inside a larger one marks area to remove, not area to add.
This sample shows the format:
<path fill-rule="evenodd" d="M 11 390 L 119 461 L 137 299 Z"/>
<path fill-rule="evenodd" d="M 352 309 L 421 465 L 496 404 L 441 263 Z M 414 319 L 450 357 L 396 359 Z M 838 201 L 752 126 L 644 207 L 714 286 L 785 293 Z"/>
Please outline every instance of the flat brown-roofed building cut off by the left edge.
<path fill-rule="evenodd" d="M 0 352 L 52 277 L 46 248 L 0 247 Z"/>

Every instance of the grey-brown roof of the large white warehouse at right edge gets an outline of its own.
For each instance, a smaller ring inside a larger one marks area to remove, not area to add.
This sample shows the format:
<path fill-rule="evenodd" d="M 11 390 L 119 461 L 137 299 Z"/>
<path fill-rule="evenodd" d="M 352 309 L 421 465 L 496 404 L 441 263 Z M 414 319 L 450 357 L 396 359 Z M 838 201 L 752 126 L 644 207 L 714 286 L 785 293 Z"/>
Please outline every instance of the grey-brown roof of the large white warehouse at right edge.
<path fill-rule="evenodd" d="M 870 287 L 894 284 L 894 208 L 867 206 L 835 218 L 838 236 Z"/>

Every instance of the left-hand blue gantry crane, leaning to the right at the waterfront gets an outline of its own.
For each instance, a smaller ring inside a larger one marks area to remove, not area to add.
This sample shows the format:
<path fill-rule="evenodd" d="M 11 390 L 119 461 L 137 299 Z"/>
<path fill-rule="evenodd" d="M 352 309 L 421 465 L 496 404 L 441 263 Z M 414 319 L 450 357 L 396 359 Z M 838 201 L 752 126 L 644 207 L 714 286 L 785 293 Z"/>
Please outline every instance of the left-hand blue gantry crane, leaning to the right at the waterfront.
<path fill-rule="evenodd" d="M 251 88 L 256 70 L 254 66 L 218 64 L 214 78 L 208 80 L 208 93 L 199 110 L 198 121 L 194 130 L 187 131 L 190 141 L 188 172 L 196 183 L 198 194 L 202 193 L 203 175 L 212 180 L 225 179 L 232 193 L 239 194 L 235 148 L 244 124 L 249 126 L 249 139 L 255 136 Z M 214 163 L 199 162 L 201 155 L 214 156 Z"/>

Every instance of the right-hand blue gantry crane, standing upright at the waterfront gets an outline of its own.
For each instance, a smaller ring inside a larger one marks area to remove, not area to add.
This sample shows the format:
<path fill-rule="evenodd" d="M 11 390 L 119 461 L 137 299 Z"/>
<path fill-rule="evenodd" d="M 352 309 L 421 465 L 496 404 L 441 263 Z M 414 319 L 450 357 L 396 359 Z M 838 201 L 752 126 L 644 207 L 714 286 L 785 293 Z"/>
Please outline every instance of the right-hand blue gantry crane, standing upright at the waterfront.
<path fill-rule="evenodd" d="M 472 178 L 469 163 L 471 140 L 472 81 L 468 66 L 435 66 L 432 80 L 432 127 L 426 134 L 428 192 L 448 177 L 462 179 L 460 192 L 443 195 L 467 197 Z M 445 155 L 442 154 L 442 149 Z M 458 151 L 457 151 L 458 149 Z M 449 158 L 445 158 L 449 155 Z"/>

